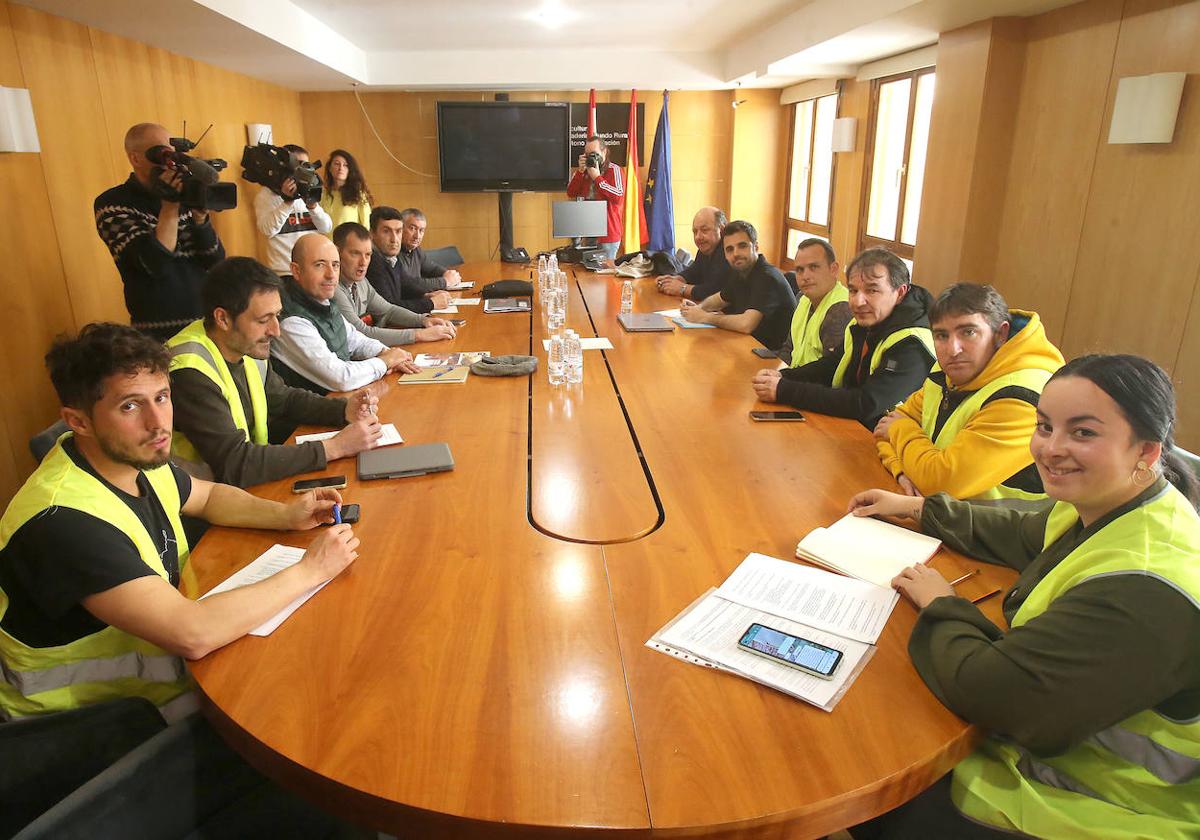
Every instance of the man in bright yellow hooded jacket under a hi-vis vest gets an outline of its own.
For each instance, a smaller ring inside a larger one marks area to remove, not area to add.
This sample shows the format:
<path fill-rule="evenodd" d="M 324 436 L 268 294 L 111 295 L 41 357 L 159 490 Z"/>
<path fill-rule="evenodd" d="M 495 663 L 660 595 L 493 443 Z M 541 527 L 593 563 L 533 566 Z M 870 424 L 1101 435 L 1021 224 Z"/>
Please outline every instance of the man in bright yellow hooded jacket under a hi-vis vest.
<path fill-rule="evenodd" d="M 929 319 L 937 367 L 875 426 L 883 466 L 910 496 L 1045 498 L 1030 438 L 1038 396 L 1063 358 L 1042 319 L 973 283 L 942 292 Z"/>

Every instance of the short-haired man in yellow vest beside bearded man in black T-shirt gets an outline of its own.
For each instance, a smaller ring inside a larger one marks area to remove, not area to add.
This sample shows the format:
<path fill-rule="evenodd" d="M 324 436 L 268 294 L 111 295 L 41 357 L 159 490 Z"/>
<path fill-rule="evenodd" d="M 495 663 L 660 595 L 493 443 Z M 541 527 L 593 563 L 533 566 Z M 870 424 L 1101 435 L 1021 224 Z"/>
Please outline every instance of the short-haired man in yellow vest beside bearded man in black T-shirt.
<path fill-rule="evenodd" d="M 833 246 L 816 236 L 796 248 L 796 284 L 800 300 L 792 313 L 792 329 L 779 348 L 788 367 L 802 367 L 841 347 L 850 324 L 850 293 L 838 282 Z"/>

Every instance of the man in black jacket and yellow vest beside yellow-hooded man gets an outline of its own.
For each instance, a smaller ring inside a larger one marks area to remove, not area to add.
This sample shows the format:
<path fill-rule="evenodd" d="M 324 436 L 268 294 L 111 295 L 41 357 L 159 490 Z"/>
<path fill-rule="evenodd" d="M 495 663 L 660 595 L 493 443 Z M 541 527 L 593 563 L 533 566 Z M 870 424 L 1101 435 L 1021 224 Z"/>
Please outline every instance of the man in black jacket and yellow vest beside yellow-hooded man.
<path fill-rule="evenodd" d="M 875 428 L 924 380 L 934 365 L 926 316 L 932 296 L 887 248 L 868 248 L 846 266 L 850 312 L 842 346 L 816 361 L 752 380 L 763 402 L 853 418 Z"/>

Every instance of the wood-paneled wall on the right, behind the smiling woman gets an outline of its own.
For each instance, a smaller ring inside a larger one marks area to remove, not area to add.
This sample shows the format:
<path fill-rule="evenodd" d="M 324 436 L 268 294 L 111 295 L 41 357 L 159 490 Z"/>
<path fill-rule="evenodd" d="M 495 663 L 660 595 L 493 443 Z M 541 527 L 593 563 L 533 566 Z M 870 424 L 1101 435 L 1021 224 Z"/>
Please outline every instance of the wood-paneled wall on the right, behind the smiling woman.
<path fill-rule="evenodd" d="M 1136 353 L 1174 377 L 1200 449 L 1200 2 L 1087 0 L 942 35 L 914 272 L 994 283 L 1063 353 Z M 1122 77 L 1189 73 L 1175 138 L 1109 145 Z"/>

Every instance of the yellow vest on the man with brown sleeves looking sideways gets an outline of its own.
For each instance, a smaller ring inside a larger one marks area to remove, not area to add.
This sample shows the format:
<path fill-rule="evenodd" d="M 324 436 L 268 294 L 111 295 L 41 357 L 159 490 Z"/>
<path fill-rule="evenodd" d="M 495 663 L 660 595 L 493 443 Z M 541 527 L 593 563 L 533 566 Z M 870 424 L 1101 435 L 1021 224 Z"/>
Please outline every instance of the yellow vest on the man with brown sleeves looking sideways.
<path fill-rule="evenodd" d="M 246 433 L 246 439 L 258 445 L 266 445 L 266 360 L 242 356 L 242 370 L 246 371 L 246 388 L 250 391 L 250 406 L 254 412 L 254 428 L 246 422 L 246 412 L 241 407 L 241 396 L 234 384 L 221 350 L 204 331 L 203 320 L 193 320 L 167 341 L 170 348 L 170 370 L 199 371 L 221 390 L 221 396 L 229 404 L 233 425 Z M 203 462 L 199 452 L 182 432 L 174 432 L 170 442 L 172 451 L 185 461 Z"/>

